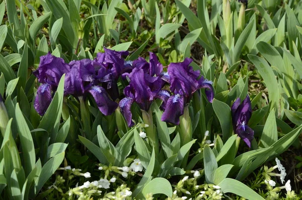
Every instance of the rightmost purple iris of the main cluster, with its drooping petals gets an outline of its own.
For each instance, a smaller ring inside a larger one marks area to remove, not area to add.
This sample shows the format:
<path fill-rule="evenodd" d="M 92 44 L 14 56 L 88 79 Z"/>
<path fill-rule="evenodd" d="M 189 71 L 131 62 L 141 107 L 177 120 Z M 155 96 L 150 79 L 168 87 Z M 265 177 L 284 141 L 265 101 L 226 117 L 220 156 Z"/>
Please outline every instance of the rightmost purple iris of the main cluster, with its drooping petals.
<path fill-rule="evenodd" d="M 184 113 L 184 107 L 190 102 L 195 91 L 204 88 L 209 102 L 214 98 L 212 82 L 200 77 L 199 71 L 194 71 L 190 63 L 192 59 L 186 58 L 183 62 L 170 63 L 168 73 L 162 73 L 162 79 L 170 82 L 170 90 L 174 93 L 167 103 L 162 121 L 179 124 L 179 117 Z M 200 78 L 199 78 L 200 77 Z"/>

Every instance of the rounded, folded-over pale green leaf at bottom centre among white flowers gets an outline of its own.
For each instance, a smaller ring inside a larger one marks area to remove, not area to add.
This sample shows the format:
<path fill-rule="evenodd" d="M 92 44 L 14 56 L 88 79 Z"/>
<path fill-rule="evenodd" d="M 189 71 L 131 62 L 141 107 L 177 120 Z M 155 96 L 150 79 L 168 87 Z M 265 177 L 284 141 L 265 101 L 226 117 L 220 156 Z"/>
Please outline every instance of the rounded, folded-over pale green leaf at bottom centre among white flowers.
<path fill-rule="evenodd" d="M 170 182 L 165 178 L 155 178 L 148 182 L 142 189 L 142 194 L 146 196 L 148 193 L 165 194 L 172 197 L 173 191 Z"/>

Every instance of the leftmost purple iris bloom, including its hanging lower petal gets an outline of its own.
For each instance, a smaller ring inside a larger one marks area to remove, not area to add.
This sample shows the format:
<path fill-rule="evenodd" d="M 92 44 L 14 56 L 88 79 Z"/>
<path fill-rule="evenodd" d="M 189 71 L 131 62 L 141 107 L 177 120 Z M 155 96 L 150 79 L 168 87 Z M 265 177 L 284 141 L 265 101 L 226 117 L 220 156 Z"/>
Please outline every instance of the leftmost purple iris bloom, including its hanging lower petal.
<path fill-rule="evenodd" d="M 49 52 L 40 58 L 40 64 L 33 74 L 42 83 L 35 98 L 34 106 L 40 115 L 44 115 L 52 100 L 52 91 L 56 91 L 63 74 L 70 71 L 70 66 L 60 57 L 55 57 Z"/>

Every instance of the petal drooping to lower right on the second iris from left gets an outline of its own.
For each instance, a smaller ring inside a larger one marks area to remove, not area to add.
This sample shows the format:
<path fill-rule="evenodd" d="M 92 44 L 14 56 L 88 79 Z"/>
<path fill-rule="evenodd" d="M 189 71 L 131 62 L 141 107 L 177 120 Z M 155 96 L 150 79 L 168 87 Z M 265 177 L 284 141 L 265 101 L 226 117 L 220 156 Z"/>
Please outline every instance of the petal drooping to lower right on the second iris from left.
<path fill-rule="evenodd" d="M 109 98 L 108 93 L 103 87 L 92 86 L 88 92 L 93 96 L 104 115 L 111 115 L 117 108 L 118 104 Z"/>

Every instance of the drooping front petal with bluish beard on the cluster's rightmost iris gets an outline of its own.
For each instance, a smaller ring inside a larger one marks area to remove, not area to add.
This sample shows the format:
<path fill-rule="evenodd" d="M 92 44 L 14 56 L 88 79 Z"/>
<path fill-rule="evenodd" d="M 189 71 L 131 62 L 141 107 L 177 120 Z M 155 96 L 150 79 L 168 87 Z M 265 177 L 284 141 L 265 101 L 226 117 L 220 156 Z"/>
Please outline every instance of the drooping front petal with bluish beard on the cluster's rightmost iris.
<path fill-rule="evenodd" d="M 162 121 L 179 125 L 179 117 L 184 114 L 185 101 L 180 94 L 169 97 L 166 109 L 162 115 Z"/>

